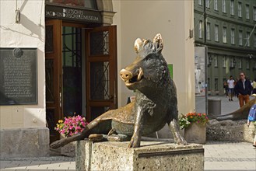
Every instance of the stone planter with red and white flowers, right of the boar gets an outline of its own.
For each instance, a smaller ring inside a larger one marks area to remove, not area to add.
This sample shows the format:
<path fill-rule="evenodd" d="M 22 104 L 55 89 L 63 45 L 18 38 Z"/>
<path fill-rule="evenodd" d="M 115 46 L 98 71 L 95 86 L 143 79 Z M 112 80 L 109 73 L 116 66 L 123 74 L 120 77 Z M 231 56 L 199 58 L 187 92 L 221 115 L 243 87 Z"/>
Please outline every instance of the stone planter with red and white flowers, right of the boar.
<path fill-rule="evenodd" d="M 209 118 L 205 113 L 182 114 L 179 119 L 181 129 L 184 129 L 184 138 L 188 142 L 205 144 L 206 124 Z"/>

